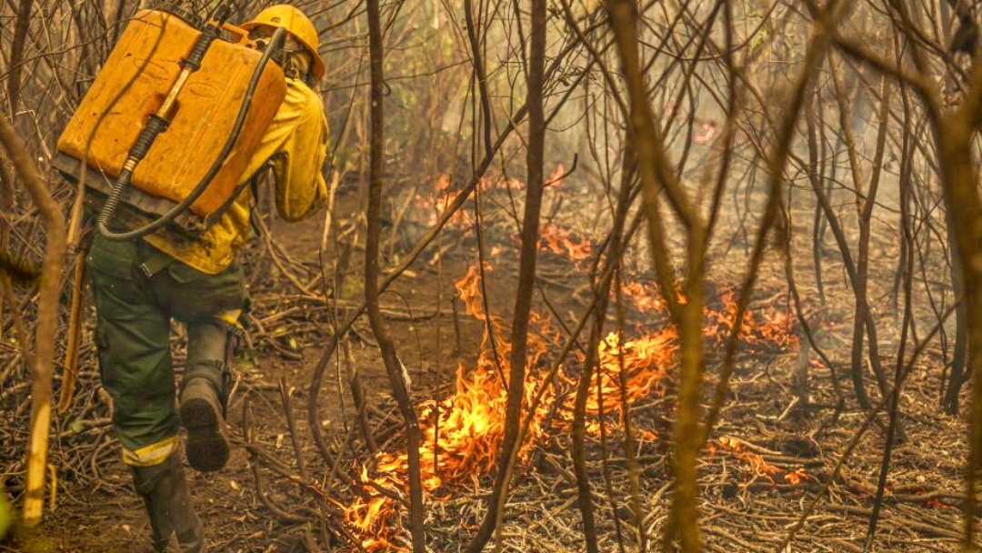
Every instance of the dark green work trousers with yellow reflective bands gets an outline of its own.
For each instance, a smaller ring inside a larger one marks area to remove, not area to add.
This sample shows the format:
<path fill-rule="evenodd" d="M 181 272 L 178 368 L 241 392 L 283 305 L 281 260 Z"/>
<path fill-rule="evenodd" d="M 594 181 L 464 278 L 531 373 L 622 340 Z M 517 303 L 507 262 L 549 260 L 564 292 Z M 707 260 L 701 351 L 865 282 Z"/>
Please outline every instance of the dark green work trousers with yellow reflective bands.
<path fill-rule="evenodd" d="M 243 270 L 233 263 L 209 275 L 141 240 L 112 242 L 98 233 L 86 262 L 97 310 L 99 370 L 116 404 L 113 426 L 124 461 L 163 463 L 177 449 L 180 426 L 171 318 L 188 328 L 185 380 L 194 373 L 223 390 L 229 334 L 247 304 Z"/>

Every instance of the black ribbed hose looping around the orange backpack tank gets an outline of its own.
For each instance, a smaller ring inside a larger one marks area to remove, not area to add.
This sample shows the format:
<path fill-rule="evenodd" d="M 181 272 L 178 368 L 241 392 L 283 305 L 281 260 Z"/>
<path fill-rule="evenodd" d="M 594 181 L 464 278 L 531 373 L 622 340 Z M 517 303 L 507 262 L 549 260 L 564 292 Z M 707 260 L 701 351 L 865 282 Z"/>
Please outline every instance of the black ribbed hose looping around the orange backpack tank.
<path fill-rule="evenodd" d="M 204 38 L 205 32 L 207 32 L 207 29 L 202 32 L 201 38 L 199 38 L 198 42 L 194 45 L 192 55 L 198 51 L 198 46 L 201 44 L 201 40 Z M 269 62 L 270 57 L 272 57 L 273 52 L 279 49 L 283 44 L 286 34 L 287 30 L 285 28 L 277 28 L 273 33 L 273 36 L 269 39 L 269 44 L 263 51 L 262 57 L 259 58 L 259 64 L 256 66 L 255 71 L 252 72 L 252 78 L 249 80 L 248 87 L 246 88 L 246 97 L 243 99 L 243 104 L 239 108 L 239 115 L 236 116 L 236 121 L 232 126 L 232 132 L 230 133 L 229 138 L 225 141 L 225 145 L 219 152 L 218 157 L 211 164 L 208 172 L 201 178 L 201 181 L 197 184 L 197 186 L 191 190 L 191 194 L 188 194 L 188 197 L 181 200 L 177 205 L 172 207 L 170 211 L 161 215 L 159 218 L 154 219 L 152 222 L 132 231 L 114 233 L 109 230 L 109 224 L 116 215 L 116 209 L 119 207 L 119 202 L 123 196 L 123 193 L 126 191 L 126 187 L 130 184 L 130 179 L 133 177 L 133 170 L 136 168 L 136 163 L 142 159 L 144 155 L 146 155 L 146 150 L 149 149 L 154 138 L 156 138 L 157 135 L 159 135 L 160 132 L 167 127 L 167 121 L 162 117 L 158 118 L 155 115 L 150 117 L 150 121 L 147 123 L 147 126 L 143 129 L 143 132 L 140 134 L 140 137 L 137 138 L 133 149 L 130 151 L 130 158 L 127 159 L 126 165 L 123 166 L 123 172 L 120 173 L 119 179 L 113 186 L 112 192 L 109 194 L 102 211 L 99 213 L 98 229 L 102 236 L 108 240 L 116 241 L 142 238 L 150 233 L 160 230 L 162 227 L 176 219 L 178 216 L 187 211 L 188 208 L 191 207 L 191 204 L 193 204 L 201 194 L 204 194 L 205 189 L 208 188 L 208 185 L 211 184 L 211 180 L 214 179 L 219 169 L 221 169 L 225 164 L 226 159 L 232 152 L 232 148 L 235 146 L 236 141 L 238 141 L 239 134 L 242 132 L 243 125 L 246 123 L 246 115 L 248 115 L 248 110 L 252 105 L 252 96 L 255 94 L 255 88 L 259 83 L 259 79 L 262 77 L 262 72 L 266 69 L 266 64 Z M 217 30 L 215 35 L 217 36 Z M 214 37 L 211 38 L 211 40 L 213 39 Z M 207 45 L 201 48 L 201 57 L 204 56 L 204 51 L 206 49 Z M 189 56 L 189 60 L 190 59 L 191 56 Z M 197 60 L 197 64 L 200 64 L 200 58 Z M 162 126 L 159 123 L 154 123 L 158 119 L 163 122 Z M 131 160 L 134 160 L 136 155 L 138 155 L 138 157 L 131 165 L 130 162 Z"/>

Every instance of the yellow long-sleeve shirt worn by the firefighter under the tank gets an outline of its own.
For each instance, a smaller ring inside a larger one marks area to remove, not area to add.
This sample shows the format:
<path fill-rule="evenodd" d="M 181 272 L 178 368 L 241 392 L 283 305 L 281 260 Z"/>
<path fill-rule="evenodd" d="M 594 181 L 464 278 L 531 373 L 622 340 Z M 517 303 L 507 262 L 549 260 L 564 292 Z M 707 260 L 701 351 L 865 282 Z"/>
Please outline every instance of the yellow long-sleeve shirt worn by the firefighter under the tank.
<path fill-rule="evenodd" d="M 246 184 L 268 160 L 276 178 L 276 208 L 280 216 L 287 221 L 307 217 L 327 198 L 327 185 L 321 173 L 327 137 L 327 120 L 320 97 L 302 81 L 287 79 L 286 98 L 246 165 L 240 184 Z M 196 240 L 166 229 L 143 240 L 201 272 L 220 273 L 246 243 L 251 199 L 246 187 L 219 220 Z M 125 222 L 128 226 L 137 223 Z"/>

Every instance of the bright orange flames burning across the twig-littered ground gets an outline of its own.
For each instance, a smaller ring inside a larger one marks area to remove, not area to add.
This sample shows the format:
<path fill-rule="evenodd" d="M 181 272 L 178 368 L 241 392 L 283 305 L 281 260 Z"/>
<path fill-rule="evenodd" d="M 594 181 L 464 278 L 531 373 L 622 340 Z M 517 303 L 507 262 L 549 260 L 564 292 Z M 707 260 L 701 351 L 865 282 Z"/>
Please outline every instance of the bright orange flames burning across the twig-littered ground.
<path fill-rule="evenodd" d="M 441 190 L 446 191 L 449 186 L 448 180 Z M 496 186 L 518 185 L 509 181 Z M 569 231 L 550 225 L 546 228 L 549 231 L 544 231 L 543 240 L 547 248 L 563 252 L 573 260 L 590 255 L 590 243 L 585 239 L 576 242 Z M 492 266 L 485 263 L 484 271 L 491 270 Z M 510 371 L 508 362 L 512 345 L 505 338 L 504 320 L 494 313 L 484 312 L 480 275 L 480 267 L 475 263 L 455 283 L 466 313 L 490 323 L 485 326 L 478 358 L 472 367 L 463 362 L 458 365 L 455 390 L 449 397 L 417 406 L 423 438 L 419 452 L 420 471 L 429 500 L 442 499 L 434 497 L 437 492 L 448 496 L 451 490 L 446 486 L 461 482 L 476 485 L 478 478 L 490 474 L 504 439 L 507 391 L 500 375 Z M 591 376 L 591 389 L 599 387 L 602 405 L 596 394 L 590 394 L 587 402 L 587 411 L 591 415 L 587 420 L 588 430 L 594 433 L 599 431 L 600 424 L 617 429 L 625 406 L 653 395 L 664 395 L 669 373 L 677 364 L 681 348 L 679 333 L 675 326 L 668 324 L 665 303 L 657 287 L 643 282 L 627 283 L 624 296 L 636 309 L 663 316 L 649 316 L 648 319 L 658 321 L 659 326 L 644 329 L 640 336 L 627 338 L 610 333 L 600 343 L 599 367 Z M 724 289 L 713 304 L 719 306 L 706 308 L 703 335 L 721 343 L 736 324 L 736 294 Z M 528 367 L 522 390 L 526 411 L 540 387 L 548 386 L 545 381 L 547 371 L 541 368 L 549 351 L 548 345 L 561 340 L 550 317 L 533 313 L 529 324 Z M 796 338 L 791 333 L 791 318 L 771 308 L 744 314 L 740 337 L 755 346 L 787 348 L 796 345 Z M 579 360 L 582 363 L 583 359 Z M 551 432 L 569 428 L 573 412 L 573 394 L 569 392 L 575 382 L 576 377 L 564 367 L 560 371 L 559 384 L 547 388 L 543 401 L 532 414 L 529 432 L 519 451 L 522 462 L 528 460 L 533 448 Z M 556 416 L 551 417 L 550 411 L 555 409 L 561 397 L 563 405 L 556 410 Z M 603 414 L 602 419 L 600 414 Z M 656 438 L 650 431 L 641 431 L 640 435 L 644 439 Z M 754 474 L 772 481 L 775 475 L 783 475 L 791 483 L 808 477 L 803 470 L 784 473 L 768 465 L 762 457 L 743 451 L 736 441 L 721 440 L 720 447 L 748 463 Z M 406 550 L 407 544 L 400 537 L 401 517 L 405 510 L 393 497 L 403 497 L 408 487 L 408 455 L 405 452 L 380 452 L 374 462 L 373 470 L 362 468 L 360 471 L 360 480 L 365 484 L 363 493 L 345 508 L 345 523 L 361 538 L 361 545 L 367 551 Z"/>

